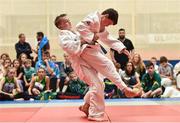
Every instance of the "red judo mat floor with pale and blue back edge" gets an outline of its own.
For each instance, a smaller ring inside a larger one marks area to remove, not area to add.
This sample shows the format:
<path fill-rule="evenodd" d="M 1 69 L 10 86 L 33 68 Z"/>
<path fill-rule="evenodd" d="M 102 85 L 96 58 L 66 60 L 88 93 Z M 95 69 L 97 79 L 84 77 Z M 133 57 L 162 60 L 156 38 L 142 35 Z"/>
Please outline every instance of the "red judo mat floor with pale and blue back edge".
<path fill-rule="evenodd" d="M 0 122 L 93 122 L 83 100 L 0 102 Z M 180 122 L 180 98 L 106 100 L 106 122 Z"/>

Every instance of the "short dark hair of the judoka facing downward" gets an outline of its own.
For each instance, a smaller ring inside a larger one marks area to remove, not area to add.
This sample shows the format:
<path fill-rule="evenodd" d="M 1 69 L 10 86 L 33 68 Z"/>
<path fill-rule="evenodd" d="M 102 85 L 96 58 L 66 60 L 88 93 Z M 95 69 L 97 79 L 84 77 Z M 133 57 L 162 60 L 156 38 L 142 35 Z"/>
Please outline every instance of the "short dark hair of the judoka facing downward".
<path fill-rule="evenodd" d="M 102 12 L 102 15 L 105 15 L 105 14 L 109 15 L 108 18 L 113 21 L 113 25 L 117 24 L 119 14 L 115 9 L 109 8 L 109 9 L 104 10 Z"/>

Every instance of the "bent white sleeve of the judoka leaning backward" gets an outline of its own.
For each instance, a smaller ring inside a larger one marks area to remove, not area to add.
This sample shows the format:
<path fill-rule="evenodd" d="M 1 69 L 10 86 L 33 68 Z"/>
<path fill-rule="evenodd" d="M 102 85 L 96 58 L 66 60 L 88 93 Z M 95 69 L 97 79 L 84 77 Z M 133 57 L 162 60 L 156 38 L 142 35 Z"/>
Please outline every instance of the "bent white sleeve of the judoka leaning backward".
<path fill-rule="evenodd" d="M 81 47 L 80 40 L 75 40 L 68 32 L 60 32 L 59 43 L 64 51 L 70 54 L 78 54 Z"/>

